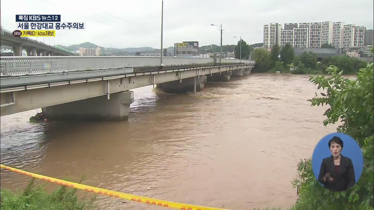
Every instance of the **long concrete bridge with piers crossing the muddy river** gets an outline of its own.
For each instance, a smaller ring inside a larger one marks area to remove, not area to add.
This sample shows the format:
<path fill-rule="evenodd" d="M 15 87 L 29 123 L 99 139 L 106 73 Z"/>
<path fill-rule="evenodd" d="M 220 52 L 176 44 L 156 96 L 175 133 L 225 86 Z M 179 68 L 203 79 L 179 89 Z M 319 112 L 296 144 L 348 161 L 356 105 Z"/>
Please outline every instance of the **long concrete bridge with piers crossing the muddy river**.
<path fill-rule="evenodd" d="M 42 108 L 49 120 L 127 120 L 131 89 L 201 91 L 207 81 L 249 74 L 254 61 L 144 56 L 3 56 L 1 116 Z"/>

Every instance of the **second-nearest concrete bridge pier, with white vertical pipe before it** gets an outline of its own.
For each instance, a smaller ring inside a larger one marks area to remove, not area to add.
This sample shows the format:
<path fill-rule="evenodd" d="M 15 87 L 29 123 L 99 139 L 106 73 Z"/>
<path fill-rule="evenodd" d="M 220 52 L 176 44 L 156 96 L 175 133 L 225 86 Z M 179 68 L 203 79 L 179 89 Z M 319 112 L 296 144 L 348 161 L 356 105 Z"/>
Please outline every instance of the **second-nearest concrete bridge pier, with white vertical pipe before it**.
<path fill-rule="evenodd" d="M 170 81 L 166 83 L 157 84 L 165 93 L 186 93 L 189 91 L 203 91 L 204 84 L 206 83 L 206 76 L 190 77 L 180 80 Z"/>

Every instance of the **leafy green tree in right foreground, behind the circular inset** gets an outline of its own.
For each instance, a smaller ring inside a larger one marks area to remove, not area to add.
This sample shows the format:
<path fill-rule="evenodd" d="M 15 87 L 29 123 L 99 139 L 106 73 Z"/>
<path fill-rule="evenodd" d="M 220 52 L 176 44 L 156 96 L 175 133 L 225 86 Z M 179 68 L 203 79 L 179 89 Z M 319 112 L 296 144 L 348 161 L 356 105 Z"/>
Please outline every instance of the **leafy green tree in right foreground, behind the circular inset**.
<path fill-rule="evenodd" d="M 359 70 L 357 78 L 343 78 L 343 71 L 330 66 L 331 77 L 311 76 L 309 78 L 317 89 L 325 90 L 321 98 L 309 99 L 312 106 L 328 105 L 323 115 L 327 118 L 324 126 L 341 121 L 337 132 L 346 133 L 356 140 L 364 157 L 364 167 L 358 182 L 344 192 L 331 192 L 323 188 L 312 172 L 311 160 L 304 159 L 298 164 L 298 177 L 292 181 L 296 187 L 301 184 L 302 191 L 291 209 L 347 209 L 373 210 L 374 206 L 374 72 L 373 64 Z"/>

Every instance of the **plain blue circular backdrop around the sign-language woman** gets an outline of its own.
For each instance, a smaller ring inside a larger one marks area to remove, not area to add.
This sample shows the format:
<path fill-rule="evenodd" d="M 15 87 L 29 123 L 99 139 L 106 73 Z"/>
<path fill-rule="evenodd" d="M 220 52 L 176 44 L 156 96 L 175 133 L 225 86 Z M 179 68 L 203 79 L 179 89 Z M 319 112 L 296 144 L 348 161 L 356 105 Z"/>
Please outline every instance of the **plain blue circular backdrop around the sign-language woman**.
<path fill-rule="evenodd" d="M 312 155 L 312 170 L 314 176 L 318 180 L 319 169 L 321 169 L 322 160 L 331 156 L 331 152 L 328 148 L 328 141 L 334 136 L 339 137 L 343 141 L 343 149 L 341 150 L 341 154 L 352 160 L 357 183 L 357 181 L 360 179 L 362 168 L 364 166 L 364 158 L 362 157 L 360 146 L 355 141 L 355 139 L 345 133 L 330 133 L 317 143 Z"/>

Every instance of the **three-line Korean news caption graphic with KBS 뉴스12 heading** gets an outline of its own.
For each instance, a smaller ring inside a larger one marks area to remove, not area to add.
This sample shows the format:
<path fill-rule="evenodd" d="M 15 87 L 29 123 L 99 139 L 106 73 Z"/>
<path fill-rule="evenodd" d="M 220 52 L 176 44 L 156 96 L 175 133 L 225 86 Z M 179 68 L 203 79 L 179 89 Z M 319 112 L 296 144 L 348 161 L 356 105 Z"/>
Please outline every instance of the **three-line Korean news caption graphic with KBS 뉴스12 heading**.
<path fill-rule="evenodd" d="M 56 36 L 54 30 L 85 30 L 85 25 L 85 22 L 61 22 L 61 15 L 16 15 L 16 30 L 13 31 L 13 35 L 54 37 Z M 35 33 L 30 30 L 35 30 Z"/>

